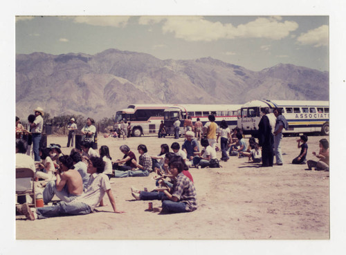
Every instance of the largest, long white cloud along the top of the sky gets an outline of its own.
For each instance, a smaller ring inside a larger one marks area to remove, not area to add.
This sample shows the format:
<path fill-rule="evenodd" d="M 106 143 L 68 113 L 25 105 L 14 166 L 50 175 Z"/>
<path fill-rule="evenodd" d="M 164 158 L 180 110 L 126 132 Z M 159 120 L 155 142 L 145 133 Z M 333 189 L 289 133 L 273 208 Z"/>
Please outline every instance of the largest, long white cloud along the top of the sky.
<path fill-rule="evenodd" d="M 298 28 L 295 21 L 284 21 L 282 17 L 259 17 L 255 21 L 237 27 L 231 23 L 212 22 L 199 16 L 140 17 L 141 25 L 163 21 L 164 33 L 172 32 L 185 41 L 215 41 L 235 38 L 282 39 Z"/>

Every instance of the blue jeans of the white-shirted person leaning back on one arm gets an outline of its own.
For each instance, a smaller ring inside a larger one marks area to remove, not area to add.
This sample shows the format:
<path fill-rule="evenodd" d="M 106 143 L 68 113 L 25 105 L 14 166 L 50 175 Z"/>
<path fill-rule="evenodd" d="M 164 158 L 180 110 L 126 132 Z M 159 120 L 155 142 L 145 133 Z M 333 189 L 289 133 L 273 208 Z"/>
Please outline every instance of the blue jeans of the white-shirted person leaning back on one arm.
<path fill-rule="evenodd" d="M 59 202 L 51 207 L 37 207 L 37 218 L 51 218 L 67 215 L 84 215 L 90 214 L 91 208 L 84 202 Z"/>

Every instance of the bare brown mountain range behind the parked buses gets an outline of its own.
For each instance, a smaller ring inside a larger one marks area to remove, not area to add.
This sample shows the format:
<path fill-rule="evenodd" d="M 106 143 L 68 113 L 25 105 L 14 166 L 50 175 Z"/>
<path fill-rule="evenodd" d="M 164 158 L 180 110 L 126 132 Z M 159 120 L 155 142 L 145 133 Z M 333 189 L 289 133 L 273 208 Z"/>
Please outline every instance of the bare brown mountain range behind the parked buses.
<path fill-rule="evenodd" d="M 205 57 L 161 60 L 116 49 L 87 55 L 16 55 L 16 115 L 37 106 L 51 117 L 100 120 L 129 104 L 243 104 L 329 100 L 329 72 L 293 64 L 260 71 Z"/>

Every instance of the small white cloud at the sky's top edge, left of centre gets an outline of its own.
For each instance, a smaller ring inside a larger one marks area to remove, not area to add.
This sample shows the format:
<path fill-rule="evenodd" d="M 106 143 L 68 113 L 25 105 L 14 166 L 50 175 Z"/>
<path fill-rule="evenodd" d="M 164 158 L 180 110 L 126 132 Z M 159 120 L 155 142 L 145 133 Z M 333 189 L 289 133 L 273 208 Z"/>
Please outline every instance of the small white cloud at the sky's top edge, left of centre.
<path fill-rule="evenodd" d="M 75 23 L 86 23 L 92 26 L 125 27 L 129 16 L 79 16 L 73 18 Z"/>

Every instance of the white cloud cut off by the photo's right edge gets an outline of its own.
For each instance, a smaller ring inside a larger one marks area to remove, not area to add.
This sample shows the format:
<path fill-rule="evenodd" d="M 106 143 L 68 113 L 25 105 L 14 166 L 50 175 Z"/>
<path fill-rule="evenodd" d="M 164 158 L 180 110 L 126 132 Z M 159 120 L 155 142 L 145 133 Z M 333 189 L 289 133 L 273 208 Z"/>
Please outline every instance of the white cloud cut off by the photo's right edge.
<path fill-rule="evenodd" d="M 314 47 L 327 46 L 329 41 L 329 27 L 320 26 L 306 33 L 300 34 L 297 43 L 301 45 L 313 45 Z"/>

